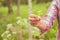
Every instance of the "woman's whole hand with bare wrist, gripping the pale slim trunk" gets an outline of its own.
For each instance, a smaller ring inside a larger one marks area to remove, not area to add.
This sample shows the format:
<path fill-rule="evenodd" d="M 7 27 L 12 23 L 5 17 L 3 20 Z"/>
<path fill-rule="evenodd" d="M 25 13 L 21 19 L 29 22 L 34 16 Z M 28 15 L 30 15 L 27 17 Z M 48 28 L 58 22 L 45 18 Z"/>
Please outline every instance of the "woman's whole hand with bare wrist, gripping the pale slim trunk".
<path fill-rule="evenodd" d="M 41 30 L 45 30 L 46 29 L 46 23 L 44 22 L 44 20 L 42 20 L 39 16 L 31 14 L 29 16 L 29 21 L 30 24 L 32 26 L 36 26 Z"/>

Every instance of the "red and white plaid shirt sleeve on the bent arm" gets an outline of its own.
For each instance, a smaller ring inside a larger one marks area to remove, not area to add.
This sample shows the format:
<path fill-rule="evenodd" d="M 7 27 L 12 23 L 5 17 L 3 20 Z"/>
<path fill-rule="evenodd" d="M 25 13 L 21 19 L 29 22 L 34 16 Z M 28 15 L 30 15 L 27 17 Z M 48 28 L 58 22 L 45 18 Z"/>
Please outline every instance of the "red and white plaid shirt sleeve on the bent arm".
<path fill-rule="evenodd" d="M 41 28 L 43 29 L 43 30 L 41 30 L 42 33 L 44 33 L 45 31 L 47 31 L 51 28 L 51 26 L 54 23 L 55 18 L 57 17 L 57 13 L 58 13 L 58 4 L 56 3 L 56 1 L 53 1 L 47 14 L 42 19 L 44 21 L 45 26 L 43 26 L 43 25 L 39 26 L 39 29 L 41 29 Z"/>

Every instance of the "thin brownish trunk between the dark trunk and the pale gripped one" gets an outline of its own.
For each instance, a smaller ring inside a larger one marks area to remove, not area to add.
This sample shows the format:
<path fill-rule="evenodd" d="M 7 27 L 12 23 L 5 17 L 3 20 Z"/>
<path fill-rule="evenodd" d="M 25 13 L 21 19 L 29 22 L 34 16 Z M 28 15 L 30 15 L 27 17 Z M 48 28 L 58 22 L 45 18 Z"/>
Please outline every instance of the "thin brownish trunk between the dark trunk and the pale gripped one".
<path fill-rule="evenodd" d="M 17 0 L 17 16 L 20 16 L 20 0 Z M 23 40 L 23 37 L 22 37 L 22 29 L 17 27 L 17 39 L 18 40 Z"/>

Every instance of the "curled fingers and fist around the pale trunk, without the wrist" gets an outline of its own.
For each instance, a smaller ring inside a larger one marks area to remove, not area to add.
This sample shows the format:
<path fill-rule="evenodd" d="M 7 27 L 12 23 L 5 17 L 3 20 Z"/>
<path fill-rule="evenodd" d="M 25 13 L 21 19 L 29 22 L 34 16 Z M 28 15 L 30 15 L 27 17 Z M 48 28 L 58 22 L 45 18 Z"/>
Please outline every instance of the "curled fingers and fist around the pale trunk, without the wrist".
<path fill-rule="evenodd" d="M 36 26 L 36 25 L 39 23 L 40 19 L 41 19 L 41 18 L 40 18 L 39 16 L 34 15 L 34 14 L 31 14 L 31 15 L 29 16 L 29 21 L 30 21 L 30 24 L 31 24 L 32 26 Z"/>

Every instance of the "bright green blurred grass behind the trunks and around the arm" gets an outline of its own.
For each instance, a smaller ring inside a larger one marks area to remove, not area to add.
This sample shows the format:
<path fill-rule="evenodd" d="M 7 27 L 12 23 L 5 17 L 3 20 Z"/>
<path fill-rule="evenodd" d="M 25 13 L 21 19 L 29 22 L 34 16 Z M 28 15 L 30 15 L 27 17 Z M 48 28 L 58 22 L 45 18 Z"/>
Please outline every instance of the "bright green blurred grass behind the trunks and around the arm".
<path fill-rule="evenodd" d="M 33 14 L 43 17 L 46 14 L 49 5 L 50 5 L 50 2 L 33 4 L 32 6 Z M 28 18 L 28 5 L 20 6 L 20 16 L 22 18 Z M 6 30 L 6 25 L 8 23 L 14 24 L 16 22 L 16 17 L 17 17 L 17 6 L 16 5 L 13 6 L 12 14 L 8 14 L 7 7 L 0 7 L 0 35 L 4 32 L 4 30 Z M 53 40 L 56 37 L 56 32 L 57 32 L 57 22 L 55 22 L 53 28 L 46 33 L 46 35 L 48 35 L 49 37 L 49 40 Z M 51 37 L 53 38 L 51 39 Z"/>

